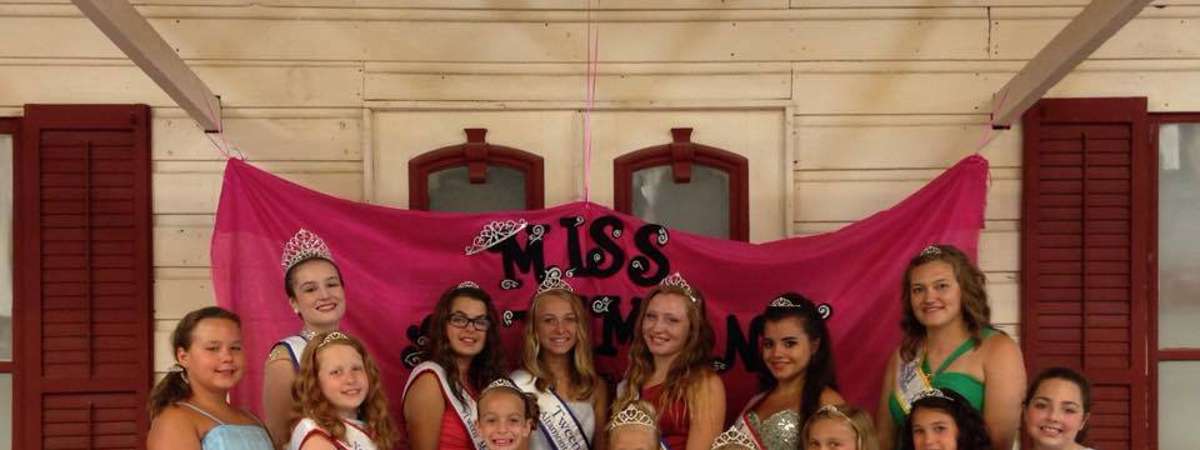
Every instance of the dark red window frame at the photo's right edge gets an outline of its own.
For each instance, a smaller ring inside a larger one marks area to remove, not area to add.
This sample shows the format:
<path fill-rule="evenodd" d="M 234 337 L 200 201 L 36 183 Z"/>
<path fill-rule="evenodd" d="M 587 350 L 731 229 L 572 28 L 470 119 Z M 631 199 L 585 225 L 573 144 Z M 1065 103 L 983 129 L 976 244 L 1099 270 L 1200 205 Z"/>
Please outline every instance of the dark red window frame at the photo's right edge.
<path fill-rule="evenodd" d="M 1172 347 L 1162 348 L 1158 343 L 1158 133 L 1163 125 L 1168 124 L 1196 124 L 1200 125 L 1200 112 L 1196 113 L 1151 113 L 1147 118 L 1150 130 L 1150 148 L 1154 151 L 1154 169 L 1150 170 L 1150 198 L 1144 199 L 1150 204 L 1150 229 L 1147 230 L 1146 245 L 1151 258 L 1150 265 L 1150 448 L 1158 448 L 1158 367 L 1163 362 L 1189 361 L 1200 362 L 1200 347 Z"/>

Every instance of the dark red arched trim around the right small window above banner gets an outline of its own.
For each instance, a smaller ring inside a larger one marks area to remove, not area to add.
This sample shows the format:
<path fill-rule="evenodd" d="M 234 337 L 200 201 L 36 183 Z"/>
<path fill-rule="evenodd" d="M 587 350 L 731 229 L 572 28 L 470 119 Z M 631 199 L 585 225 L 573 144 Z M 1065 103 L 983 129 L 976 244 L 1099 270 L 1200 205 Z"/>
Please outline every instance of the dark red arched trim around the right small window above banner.
<path fill-rule="evenodd" d="M 730 239 L 750 240 L 750 163 L 738 154 L 691 142 L 691 128 L 671 128 L 670 144 L 648 146 L 613 160 L 613 209 L 632 214 L 630 184 L 641 169 L 671 166 L 676 182 L 691 181 L 691 164 L 730 175 Z"/>

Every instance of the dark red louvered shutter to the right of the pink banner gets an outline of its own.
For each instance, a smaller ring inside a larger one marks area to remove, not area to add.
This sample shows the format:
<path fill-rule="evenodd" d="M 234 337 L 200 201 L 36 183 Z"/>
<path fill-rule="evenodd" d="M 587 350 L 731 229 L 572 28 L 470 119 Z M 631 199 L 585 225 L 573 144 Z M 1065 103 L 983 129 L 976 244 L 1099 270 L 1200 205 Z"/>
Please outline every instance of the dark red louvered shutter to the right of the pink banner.
<path fill-rule="evenodd" d="M 1048 98 L 1024 127 L 1021 347 L 1093 383 L 1088 440 L 1148 445 L 1146 98 Z"/>

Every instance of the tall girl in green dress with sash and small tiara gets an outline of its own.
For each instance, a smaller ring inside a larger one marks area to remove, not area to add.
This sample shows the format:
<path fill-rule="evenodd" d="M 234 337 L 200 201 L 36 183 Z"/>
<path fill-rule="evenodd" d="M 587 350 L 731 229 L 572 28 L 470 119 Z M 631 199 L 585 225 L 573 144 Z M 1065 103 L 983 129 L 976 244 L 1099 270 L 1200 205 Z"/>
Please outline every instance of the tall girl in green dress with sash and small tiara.
<path fill-rule="evenodd" d="M 1020 422 L 1025 364 L 1016 342 L 991 326 L 986 278 L 960 250 L 931 245 L 901 281 L 904 340 L 883 377 L 880 444 L 895 448 L 913 398 L 953 389 L 983 414 L 991 446 L 1009 449 Z M 936 367 L 936 370 L 934 368 Z M 882 418 L 892 416 L 892 420 Z"/>

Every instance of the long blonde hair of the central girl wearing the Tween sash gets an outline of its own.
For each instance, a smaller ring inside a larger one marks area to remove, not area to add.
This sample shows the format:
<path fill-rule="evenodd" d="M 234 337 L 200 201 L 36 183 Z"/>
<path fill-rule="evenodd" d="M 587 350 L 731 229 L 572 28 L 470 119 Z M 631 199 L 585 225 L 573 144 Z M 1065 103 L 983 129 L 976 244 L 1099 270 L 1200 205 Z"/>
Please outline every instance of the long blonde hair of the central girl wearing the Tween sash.
<path fill-rule="evenodd" d="M 574 292 L 566 289 L 551 289 L 538 295 L 534 295 L 533 301 L 529 305 L 529 314 L 526 319 L 526 331 L 524 331 L 524 358 L 523 365 L 524 370 L 532 374 L 536 382 L 534 385 L 540 391 L 545 391 L 553 380 L 553 376 L 550 371 L 550 365 L 541 359 L 541 344 L 538 342 L 538 312 L 539 305 L 542 304 L 542 299 L 556 296 L 566 300 L 571 305 L 571 312 L 575 313 L 577 318 L 577 324 L 575 329 L 575 348 L 568 354 L 568 359 L 571 361 L 570 365 L 570 378 L 571 384 L 577 386 L 574 400 L 588 400 L 592 398 L 592 391 L 599 384 L 599 377 L 596 376 L 595 364 L 592 359 L 592 332 L 588 330 L 588 318 L 586 311 L 583 311 L 583 300 L 580 299 Z"/>

